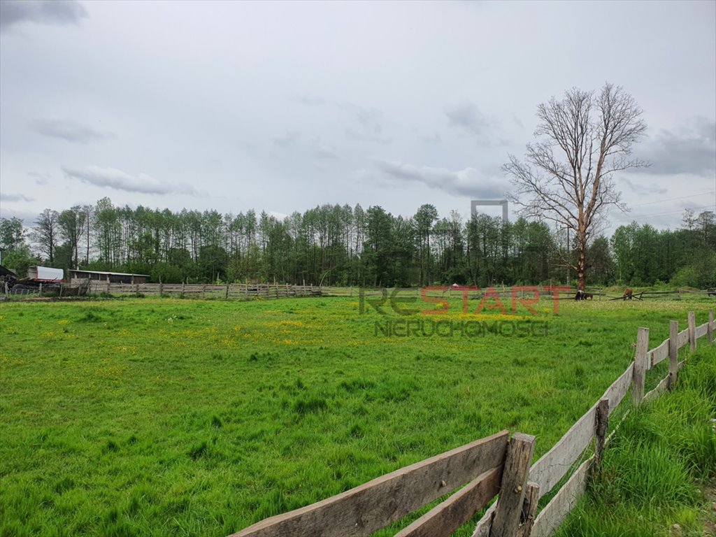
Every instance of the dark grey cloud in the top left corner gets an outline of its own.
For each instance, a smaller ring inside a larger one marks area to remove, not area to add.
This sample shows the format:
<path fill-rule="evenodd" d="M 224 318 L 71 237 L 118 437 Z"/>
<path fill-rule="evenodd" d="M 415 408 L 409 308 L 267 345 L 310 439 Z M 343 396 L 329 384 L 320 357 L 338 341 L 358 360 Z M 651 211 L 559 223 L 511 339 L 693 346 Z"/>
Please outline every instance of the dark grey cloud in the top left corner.
<path fill-rule="evenodd" d="M 84 6 L 75 0 L 2 0 L 0 32 L 14 24 L 79 24 L 87 16 Z"/>

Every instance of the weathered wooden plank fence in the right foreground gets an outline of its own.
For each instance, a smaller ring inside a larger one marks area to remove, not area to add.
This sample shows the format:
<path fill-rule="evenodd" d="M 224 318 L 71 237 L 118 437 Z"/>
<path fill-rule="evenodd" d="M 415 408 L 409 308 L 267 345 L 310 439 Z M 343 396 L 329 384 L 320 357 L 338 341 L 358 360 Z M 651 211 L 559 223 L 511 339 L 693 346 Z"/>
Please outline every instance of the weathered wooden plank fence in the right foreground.
<path fill-rule="evenodd" d="M 504 430 L 468 445 L 436 455 L 420 463 L 382 475 L 368 483 L 312 505 L 266 518 L 231 537 L 274 536 L 368 536 L 437 498 L 456 493 L 439 503 L 398 537 L 450 536 L 467 523 L 490 500 L 497 501 L 480 519 L 473 537 L 547 537 L 562 523 L 586 489 L 590 470 L 599 465 L 609 442 L 609 415 L 632 387 L 632 403 L 657 397 L 677 382 L 678 351 L 708 336 L 713 343 L 716 321 L 696 326 L 690 312 L 688 327 L 679 332 L 678 322 L 669 324 L 669 338 L 649 349 L 649 329 L 640 328 L 636 357 L 604 395 L 566 432 L 551 450 L 531 464 L 535 438 L 520 432 L 508 440 Z M 669 359 L 669 374 L 644 395 L 647 369 Z M 612 433 L 613 434 L 613 433 Z M 585 453 L 582 462 L 545 507 L 536 514 L 541 497 L 566 477 Z"/>

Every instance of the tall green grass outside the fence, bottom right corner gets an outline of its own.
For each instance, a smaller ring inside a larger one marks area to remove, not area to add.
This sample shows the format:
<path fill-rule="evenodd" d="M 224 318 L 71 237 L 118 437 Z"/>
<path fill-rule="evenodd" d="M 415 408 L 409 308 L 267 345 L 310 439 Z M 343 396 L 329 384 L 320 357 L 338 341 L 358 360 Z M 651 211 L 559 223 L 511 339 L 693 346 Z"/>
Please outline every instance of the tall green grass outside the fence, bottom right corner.
<path fill-rule="evenodd" d="M 704 518 L 716 518 L 702 492 L 716 479 L 715 418 L 711 346 L 689 357 L 677 390 L 627 416 L 584 499 L 556 535 L 704 535 Z"/>

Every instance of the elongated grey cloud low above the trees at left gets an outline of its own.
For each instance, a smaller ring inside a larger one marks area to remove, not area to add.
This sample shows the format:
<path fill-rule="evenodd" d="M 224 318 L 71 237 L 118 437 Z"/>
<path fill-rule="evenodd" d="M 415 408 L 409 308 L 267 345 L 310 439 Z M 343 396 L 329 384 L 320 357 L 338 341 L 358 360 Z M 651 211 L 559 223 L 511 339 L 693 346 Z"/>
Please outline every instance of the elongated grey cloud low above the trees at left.
<path fill-rule="evenodd" d="M 185 184 L 172 184 L 167 181 L 160 181 L 140 173 L 130 175 L 115 168 L 100 168 L 98 166 L 87 166 L 85 168 L 69 168 L 62 166 L 62 171 L 70 178 L 89 183 L 99 187 L 125 190 L 125 192 L 136 192 L 142 194 L 187 194 L 200 195 L 195 188 Z"/>

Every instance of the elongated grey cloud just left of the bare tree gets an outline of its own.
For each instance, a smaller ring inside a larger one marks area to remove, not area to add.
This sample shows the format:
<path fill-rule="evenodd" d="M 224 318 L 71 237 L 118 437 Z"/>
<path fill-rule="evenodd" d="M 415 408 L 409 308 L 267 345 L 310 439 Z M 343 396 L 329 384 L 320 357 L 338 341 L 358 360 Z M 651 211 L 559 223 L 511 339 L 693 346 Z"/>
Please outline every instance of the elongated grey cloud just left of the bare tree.
<path fill-rule="evenodd" d="M 376 163 L 384 175 L 412 183 L 421 183 L 430 188 L 445 190 L 452 194 L 474 198 L 504 198 L 508 183 L 493 178 L 480 178 L 475 168 L 465 168 L 453 172 L 445 168 L 416 166 L 413 164 L 378 160 Z"/>

